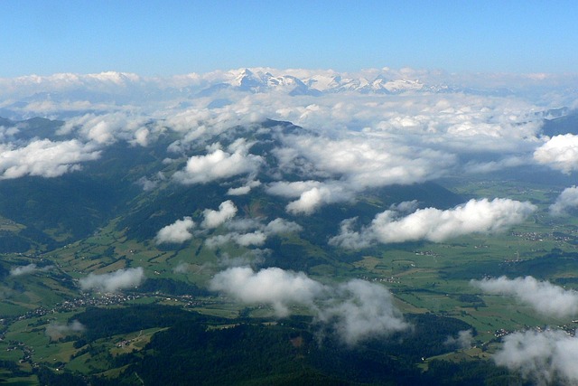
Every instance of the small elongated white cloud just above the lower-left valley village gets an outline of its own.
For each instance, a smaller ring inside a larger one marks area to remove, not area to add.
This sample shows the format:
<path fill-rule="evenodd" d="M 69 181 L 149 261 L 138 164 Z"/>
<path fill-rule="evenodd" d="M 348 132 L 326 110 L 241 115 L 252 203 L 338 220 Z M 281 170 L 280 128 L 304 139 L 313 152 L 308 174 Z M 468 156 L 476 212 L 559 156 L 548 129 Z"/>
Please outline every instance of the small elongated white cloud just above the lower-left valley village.
<path fill-rule="evenodd" d="M 79 284 L 83 291 L 117 292 L 123 288 L 138 287 L 144 279 L 144 269 L 137 267 L 117 269 L 102 275 L 91 273 L 86 278 L 80 278 Z"/>

